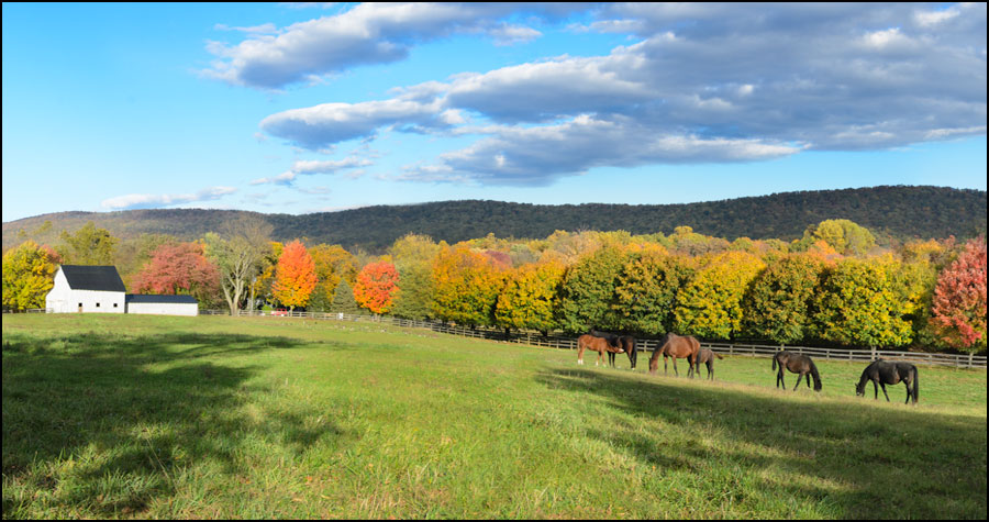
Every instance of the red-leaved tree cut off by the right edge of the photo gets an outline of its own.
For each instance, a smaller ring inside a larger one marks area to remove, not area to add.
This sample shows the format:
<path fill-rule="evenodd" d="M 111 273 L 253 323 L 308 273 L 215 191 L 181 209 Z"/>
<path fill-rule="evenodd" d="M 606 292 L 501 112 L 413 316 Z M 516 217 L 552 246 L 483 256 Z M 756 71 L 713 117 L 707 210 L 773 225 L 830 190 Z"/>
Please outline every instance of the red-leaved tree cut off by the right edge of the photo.
<path fill-rule="evenodd" d="M 942 337 L 965 352 L 986 349 L 986 240 L 965 244 L 942 270 L 934 290 L 933 322 Z"/>

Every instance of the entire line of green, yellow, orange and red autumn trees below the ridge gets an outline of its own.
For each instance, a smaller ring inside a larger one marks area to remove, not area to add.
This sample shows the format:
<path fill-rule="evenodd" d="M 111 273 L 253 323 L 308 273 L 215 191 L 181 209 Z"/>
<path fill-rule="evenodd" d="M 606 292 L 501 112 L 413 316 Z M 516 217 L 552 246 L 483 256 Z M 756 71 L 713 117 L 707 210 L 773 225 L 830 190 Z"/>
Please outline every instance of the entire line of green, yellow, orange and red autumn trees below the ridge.
<path fill-rule="evenodd" d="M 136 293 L 187 293 L 231 313 L 258 307 L 366 311 L 471 326 L 582 333 L 590 327 L 708 340 L 986 349 L 986 241 L 877 245 L 824 220 L 793 241 L 556 231 L 448 244 L 423 234 L 385 254 L 302 237 L 271 241 L 259 218 L 182 242 L 120 242 L 92 223 L 53 246 L 3 256 L 4 308 L 43 308 L 57 265 L 116 265 Z"/>

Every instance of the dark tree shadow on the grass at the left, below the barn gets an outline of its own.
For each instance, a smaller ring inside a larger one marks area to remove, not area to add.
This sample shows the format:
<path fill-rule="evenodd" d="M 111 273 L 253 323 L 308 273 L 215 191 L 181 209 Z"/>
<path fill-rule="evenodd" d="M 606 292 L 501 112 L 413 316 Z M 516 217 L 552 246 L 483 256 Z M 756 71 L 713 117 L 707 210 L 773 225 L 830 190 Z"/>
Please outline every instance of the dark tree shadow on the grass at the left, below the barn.
<path fill-rule="evenodd" d="M 345 440 L 332 421 L 313 423 L 318 412 L 307 404 L 286 412 L 258 401 L 270 391 L 249 381 L 263 369 L 259 358 L 227 357 L 305 344 L 236 334 L 4 333 L 3 518 L 140 515 L 203 463 L 244 471 L 247 436 L 297 456 L 327 437 Z M 245 414 L 248 406 L 259 411 Z"/>

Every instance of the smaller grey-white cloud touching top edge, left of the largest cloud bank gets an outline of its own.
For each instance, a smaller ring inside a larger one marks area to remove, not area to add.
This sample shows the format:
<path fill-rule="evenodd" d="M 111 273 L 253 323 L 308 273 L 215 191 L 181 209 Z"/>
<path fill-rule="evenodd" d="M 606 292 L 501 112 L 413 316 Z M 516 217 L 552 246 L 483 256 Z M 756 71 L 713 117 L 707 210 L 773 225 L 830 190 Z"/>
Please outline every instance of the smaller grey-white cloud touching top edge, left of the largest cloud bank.
<path fill-rule="evenodd" d="M 401 60 L 412 45 L 455 33 L 486 32 L 500 45 L 527 42 L 538 31 L 499 19 L 514 12 L 553 18 L 587 9 L 586 4 L 360 3 L 340 14 L 289 25 L 277 36 L 270 24 L 264 24 L 258 26 L 263 33 L 255 31 L 240 44 L 212 42 L 207 51 L 219 59 L 202 73 L 232 85 L 280 89 L 359 65 Z"/>

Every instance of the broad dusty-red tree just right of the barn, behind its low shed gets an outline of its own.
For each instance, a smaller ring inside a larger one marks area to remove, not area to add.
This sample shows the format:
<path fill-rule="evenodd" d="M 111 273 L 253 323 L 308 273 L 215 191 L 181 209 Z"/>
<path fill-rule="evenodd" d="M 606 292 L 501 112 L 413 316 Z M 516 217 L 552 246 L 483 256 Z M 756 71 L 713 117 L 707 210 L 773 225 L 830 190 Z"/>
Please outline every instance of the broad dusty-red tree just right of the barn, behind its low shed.
<path fill-rule="evenodd" d="M 176 243 L 158 246 L 134 277 L 137 293 L 191 295 L 212 299 L 220 291 L 220 271 L 205 258 L 202 245 Z"/>

